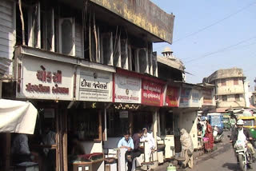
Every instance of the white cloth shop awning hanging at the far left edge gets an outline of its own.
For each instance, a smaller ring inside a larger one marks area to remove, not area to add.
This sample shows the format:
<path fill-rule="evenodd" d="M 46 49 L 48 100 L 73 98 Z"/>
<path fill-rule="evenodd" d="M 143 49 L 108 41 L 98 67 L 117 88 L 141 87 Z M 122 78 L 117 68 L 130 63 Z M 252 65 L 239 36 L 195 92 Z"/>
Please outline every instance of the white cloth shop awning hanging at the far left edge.
<path fill-rule="evenodd" d="M 0 133 L 34 133 L 38 110 L 28 101 L 0 99 Z"/>

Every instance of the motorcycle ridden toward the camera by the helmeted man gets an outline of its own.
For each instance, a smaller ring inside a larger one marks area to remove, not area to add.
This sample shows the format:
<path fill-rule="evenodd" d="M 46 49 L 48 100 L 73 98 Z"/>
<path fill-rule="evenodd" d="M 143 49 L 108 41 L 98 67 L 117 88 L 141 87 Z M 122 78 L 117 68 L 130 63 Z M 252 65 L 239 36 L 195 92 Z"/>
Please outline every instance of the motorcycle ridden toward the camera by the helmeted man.
<path fill-rule="evenodd" d="M 242 171 L 246 171 L 249 168 L 252 169 L 253 155 L 247 149 L 246 141 L 236 141 L 234 148 Z"/>

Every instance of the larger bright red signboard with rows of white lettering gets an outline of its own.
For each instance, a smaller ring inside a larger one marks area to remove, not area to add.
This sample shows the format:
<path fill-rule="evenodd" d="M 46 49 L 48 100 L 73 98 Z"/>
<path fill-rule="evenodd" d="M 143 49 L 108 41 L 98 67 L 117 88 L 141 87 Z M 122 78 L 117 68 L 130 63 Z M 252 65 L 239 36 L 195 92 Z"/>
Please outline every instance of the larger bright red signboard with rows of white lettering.
<path fill-rule="evenodd" d="M 162 106 L 163 84 L 142 79 L 142 104 Z"/>

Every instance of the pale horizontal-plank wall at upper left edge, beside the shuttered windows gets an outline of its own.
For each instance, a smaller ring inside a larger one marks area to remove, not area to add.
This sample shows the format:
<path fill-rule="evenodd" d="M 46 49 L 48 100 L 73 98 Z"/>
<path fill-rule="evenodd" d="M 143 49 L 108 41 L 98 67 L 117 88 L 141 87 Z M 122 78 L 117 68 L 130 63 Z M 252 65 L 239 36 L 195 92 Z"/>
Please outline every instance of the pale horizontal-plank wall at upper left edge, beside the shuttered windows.
<path fill-rule="evenodd" d="M 0 77 L 12 73 L 15 34 L 15 6 L 8 0 L 0 1 Z"/>

